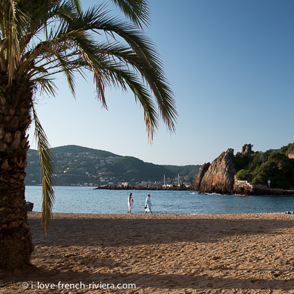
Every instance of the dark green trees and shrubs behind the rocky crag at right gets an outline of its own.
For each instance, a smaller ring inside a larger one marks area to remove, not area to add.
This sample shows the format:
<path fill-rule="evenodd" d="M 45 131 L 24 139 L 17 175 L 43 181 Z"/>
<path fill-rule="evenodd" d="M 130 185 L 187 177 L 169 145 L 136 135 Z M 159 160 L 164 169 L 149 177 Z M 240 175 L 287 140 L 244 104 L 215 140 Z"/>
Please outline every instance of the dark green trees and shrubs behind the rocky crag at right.
<path fill-rule="evenodd" d="M 284 190 L 294 189 L 294 143 L 283 146 L 280 150 L 253 152 L 249 156 L 240 152 L 234 157 L 236 177 L 240 181 L 251 181 L 253 184 L 267 185 Z"/>

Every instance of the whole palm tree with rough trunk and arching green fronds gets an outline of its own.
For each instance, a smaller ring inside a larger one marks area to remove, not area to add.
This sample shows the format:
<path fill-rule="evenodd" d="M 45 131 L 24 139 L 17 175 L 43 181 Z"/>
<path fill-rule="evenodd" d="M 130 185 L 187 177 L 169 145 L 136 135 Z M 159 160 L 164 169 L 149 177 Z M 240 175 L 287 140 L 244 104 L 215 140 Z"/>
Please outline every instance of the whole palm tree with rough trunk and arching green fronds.
<path fill-rule="evenodd" d="M 56 74 L 65 74 L 73 95 L 75 74 L 93 74 L 97 98 L 105 107 L 105 87 L 131 89 L 144 109 L 151 142 L 160 118 L 174 131 L 172 91 L 155 46 L 142 32 L 148 5 L 145 0 L 112 1 L 126 19 L 111 16 L 105 5 L 82 12 L 80 0 L 0 1 L 0 270 L 26 267 L 34 250 L 24 184 L 30 147 L 26 131 L 32 120 L 47 233 L 54 166 L 34 105 L 40 91 L 56 95 Z"/>

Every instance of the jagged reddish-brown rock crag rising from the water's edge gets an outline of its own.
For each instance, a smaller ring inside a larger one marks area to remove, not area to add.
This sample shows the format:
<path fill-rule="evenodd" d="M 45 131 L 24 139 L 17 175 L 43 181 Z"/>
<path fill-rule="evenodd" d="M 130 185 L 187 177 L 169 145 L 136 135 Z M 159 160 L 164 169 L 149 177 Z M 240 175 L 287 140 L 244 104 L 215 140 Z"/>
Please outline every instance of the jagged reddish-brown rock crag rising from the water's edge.
<path fill-rule="evenodd" d="M 234 163 L 234 149 L 229 148 L 212 164 L 205 163 L 201 166 L 192 190 L 206 193 L 231 194 L 234 192 L 236 168 Z"/>

